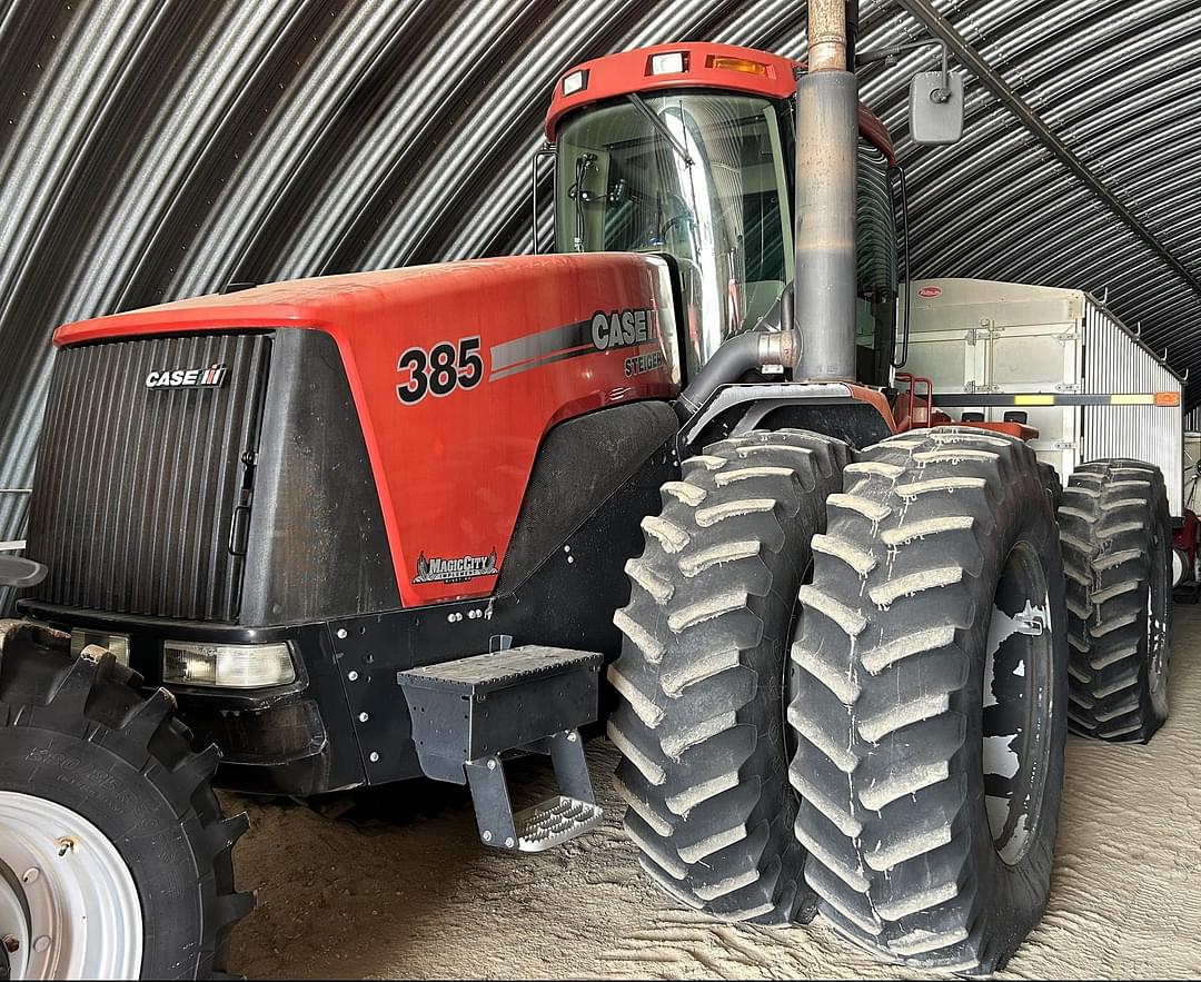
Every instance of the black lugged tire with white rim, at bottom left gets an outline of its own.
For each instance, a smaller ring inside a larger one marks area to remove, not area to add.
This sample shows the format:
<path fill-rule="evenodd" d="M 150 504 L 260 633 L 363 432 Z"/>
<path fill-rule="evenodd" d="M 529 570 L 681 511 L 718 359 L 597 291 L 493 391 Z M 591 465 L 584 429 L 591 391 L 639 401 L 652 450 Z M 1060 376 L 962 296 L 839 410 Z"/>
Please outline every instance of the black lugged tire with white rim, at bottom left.
<path fill-rule="evenodd" d="M 101 648 L 0 621 L 0 934 L 13 978 L 209 978 L 237 893 L 217 750 Z"/>

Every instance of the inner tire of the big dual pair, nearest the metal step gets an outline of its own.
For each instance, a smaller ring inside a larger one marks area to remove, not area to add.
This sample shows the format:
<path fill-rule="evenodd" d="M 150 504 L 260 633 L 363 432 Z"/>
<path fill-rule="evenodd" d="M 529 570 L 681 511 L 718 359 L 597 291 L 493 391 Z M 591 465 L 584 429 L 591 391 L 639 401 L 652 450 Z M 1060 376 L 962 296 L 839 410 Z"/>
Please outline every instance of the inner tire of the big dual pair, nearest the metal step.
<path fill-rule="evenodd" d="M 724 920 L 805 916 L 784 678 L 809 540 L 847 456 L 800 430 L 712 444 L 663 486 L 626 567 L 631 601 L 614 616 L 625 642 L 609 670 L 626 830 L 657 884 Z"/>

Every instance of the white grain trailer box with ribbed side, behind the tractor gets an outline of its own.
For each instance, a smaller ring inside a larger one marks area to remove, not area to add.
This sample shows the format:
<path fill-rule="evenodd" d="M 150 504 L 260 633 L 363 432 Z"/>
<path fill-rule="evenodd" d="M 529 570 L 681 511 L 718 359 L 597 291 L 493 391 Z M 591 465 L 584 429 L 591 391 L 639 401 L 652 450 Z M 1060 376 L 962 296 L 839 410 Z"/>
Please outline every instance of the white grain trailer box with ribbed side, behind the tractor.
<path fill-rule="evenodd" d="M 1101 457 L 1154 463 L 1183 515 L 1184 379 L 1104 304 L 1078 289 L 950 279 L 914 281 L 910 301 L 904 370 L 933 383 L 937 408 L 998 423 L 1024 412 L 1039 459 L 1064 483 Z"/>

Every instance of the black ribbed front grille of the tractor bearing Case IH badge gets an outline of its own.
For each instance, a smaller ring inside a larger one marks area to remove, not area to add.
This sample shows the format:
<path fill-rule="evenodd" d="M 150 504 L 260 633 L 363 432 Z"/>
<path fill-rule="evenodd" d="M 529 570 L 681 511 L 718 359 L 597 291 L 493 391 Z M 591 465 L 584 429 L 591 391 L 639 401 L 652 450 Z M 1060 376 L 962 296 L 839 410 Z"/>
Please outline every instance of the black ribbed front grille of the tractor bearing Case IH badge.
<path fill-rule="evenodd" d="M 269 357 L 265 335 L 58 353 L 25 551 L 50 570 L 36 599 L 237 619 L 244 558 L 231 551 L 232 532 L 235 510 L 250 501 L 253 469 L 244 455 L 257 450 Z M 222 385 L 145 384 L 151 371 L 210 365 L 226 366 Z"/>

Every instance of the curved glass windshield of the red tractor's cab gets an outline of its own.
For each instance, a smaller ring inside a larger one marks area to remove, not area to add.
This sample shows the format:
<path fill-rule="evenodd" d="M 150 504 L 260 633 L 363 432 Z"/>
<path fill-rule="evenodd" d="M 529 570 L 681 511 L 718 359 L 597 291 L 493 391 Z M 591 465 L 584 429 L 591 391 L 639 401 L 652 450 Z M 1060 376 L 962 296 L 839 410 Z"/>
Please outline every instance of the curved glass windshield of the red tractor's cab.
<path fill-rule="evenodd" d="M 791 279 L 785 136 L 775 103 L 724 92 L 634 96 L 560 131 L 558 249 L 674 256 L 689 373 Z"/>

